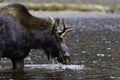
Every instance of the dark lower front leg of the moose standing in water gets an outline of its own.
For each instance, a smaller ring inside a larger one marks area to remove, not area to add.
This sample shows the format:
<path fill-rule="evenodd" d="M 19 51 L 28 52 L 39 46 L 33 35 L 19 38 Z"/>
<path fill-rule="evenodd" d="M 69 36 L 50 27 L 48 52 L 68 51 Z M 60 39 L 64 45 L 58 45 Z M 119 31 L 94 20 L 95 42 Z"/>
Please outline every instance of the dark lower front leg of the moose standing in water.
<path fill-rule="evenodd" d="M 23 70 L 24 59 L 12 60 L 12 67 L 14 70 Z"/>

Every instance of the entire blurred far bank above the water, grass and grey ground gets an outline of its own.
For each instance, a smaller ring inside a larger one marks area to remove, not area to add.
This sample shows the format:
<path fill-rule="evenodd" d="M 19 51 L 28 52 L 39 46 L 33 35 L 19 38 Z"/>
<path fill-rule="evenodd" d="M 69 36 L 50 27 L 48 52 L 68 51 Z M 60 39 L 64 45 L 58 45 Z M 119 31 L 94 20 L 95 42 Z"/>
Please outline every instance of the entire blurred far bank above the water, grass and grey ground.
<path fill-rule="evenodd" d="M 120 0 L 0 0 L 0 7 L 7 3 L 23 3 L 34 11 L 82 11 L 120 13 Z"/>

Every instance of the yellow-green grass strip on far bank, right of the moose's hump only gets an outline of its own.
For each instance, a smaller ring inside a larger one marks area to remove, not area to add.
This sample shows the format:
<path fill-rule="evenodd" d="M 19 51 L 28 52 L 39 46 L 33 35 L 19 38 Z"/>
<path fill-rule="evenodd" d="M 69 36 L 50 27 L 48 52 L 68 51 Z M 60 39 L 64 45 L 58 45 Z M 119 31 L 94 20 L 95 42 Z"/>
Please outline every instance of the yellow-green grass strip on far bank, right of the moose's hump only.
<path fill-rule="evenodd" d="M 60 3 L 43 3 L 43 4 L 33 4 L 33 3 L 25 3 L 25 6 L 28 7 L 29 10 L 42 10 L 42 11 L 63 11 L 63 10 L 71 10 L 71 11 L 108 11 L 110 8 L 107 6 L 100 5 L 81 5 L 81 4 L 60 4 Z"/>

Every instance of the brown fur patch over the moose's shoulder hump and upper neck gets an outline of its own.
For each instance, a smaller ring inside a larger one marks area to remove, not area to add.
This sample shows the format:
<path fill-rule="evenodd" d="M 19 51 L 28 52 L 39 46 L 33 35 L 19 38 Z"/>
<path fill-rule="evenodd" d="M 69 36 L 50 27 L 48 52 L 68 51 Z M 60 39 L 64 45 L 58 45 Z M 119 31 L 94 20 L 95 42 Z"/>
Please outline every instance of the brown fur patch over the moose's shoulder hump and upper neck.
<path fill-rule="evenodd" d="M 29 30 L 46 29 L 52 25 L 49 20 L 32 16 L 21 4 L 11 4 L 0 9 L 0 16 L 13 17 Z"/>

